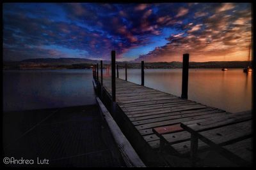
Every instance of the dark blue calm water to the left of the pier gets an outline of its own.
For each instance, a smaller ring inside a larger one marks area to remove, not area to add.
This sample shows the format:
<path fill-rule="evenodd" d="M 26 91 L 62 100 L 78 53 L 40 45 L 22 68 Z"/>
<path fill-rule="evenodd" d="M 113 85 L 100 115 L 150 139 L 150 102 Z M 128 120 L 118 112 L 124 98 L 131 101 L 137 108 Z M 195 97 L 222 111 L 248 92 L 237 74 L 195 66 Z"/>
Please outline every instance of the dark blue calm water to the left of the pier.
<path fill-rule="evenodd" d="M 95 103 L 90 69 L 3 71 L 4 111 Z"/>

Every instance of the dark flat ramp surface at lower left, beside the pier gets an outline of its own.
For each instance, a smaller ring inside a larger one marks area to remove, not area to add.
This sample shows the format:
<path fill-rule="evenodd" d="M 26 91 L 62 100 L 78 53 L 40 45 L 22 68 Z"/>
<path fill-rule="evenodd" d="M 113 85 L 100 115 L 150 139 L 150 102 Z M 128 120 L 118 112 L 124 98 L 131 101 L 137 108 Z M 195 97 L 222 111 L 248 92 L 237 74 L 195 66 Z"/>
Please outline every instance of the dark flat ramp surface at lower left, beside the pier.
<path fill-rule="evenodd" d="M 7 167 L 124 167 L 114 143 L 97 105 L 3 115 L 3 157 L 33 160 Z"/>

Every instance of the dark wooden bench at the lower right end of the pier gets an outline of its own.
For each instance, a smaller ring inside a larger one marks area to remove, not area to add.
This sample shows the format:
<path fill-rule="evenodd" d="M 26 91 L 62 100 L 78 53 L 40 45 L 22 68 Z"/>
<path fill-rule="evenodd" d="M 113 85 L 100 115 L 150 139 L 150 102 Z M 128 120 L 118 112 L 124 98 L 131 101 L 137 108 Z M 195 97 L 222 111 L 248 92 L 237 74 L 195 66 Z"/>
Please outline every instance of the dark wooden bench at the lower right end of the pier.
<path fill-rule="evenodd" d="M 197 150 L 205 148 L 205 144 L 208 145 L 206 147 L 225 155 L 227 159 L 238 166 L 250 166 L 252 164 L 250 162 L 252 150 L 250 147 L 246 148 L 247 145 L 250 145 L 250 140 L 244 141 L 244 139 L 252 137 L 252 113 L 250 111 L 182 122 L 180 126 L 191 134 L 191 146 L 186 141 L 174 144 L 172 147 L 180 154 L 190 152 L 192 164 L 195 164 Z M 185 134 L 185 136 L 188 136 L 188 134 Z M 160 136 L 160 138 L 164 139 L 164 136 Z M 199 142 L 198 139 L 200 139 Z M 202 144 L 201 141 L 204 141 L 205 144 Z M 229 147 L 223 147 L 225 145 L 229 145 Z M 236 148 L 236 151 L 232 152 L 232 148 Z M 243 157 L 240 157 L 238 152 L 243 152 L 241 153 Z M 244 159 L 244 157 L 247 159 Z"/>

